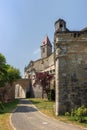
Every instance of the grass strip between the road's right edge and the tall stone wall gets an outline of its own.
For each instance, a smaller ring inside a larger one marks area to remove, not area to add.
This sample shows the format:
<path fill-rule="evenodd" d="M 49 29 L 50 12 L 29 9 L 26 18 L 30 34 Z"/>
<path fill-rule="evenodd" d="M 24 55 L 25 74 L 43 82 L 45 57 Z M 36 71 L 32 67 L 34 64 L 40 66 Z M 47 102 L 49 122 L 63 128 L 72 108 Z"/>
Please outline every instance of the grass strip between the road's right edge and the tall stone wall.
<path fill-rule="evenodd" d="M 74 125 L 79 125 L 82 127 L 87 127 L 87 123 L 79 123 L 78 121 L 75 121 L 73 118 L 71 118 L 70 116 L 55 116 L 54 113 L 54 102 L 50 102 L 47 100 L 43 100 L 43 99 L 29 99 L 42 113 L 54 118 L 54 119 L 58 119 L 60 121 L 63 121 L 65 123 L 71 123 Z"/>

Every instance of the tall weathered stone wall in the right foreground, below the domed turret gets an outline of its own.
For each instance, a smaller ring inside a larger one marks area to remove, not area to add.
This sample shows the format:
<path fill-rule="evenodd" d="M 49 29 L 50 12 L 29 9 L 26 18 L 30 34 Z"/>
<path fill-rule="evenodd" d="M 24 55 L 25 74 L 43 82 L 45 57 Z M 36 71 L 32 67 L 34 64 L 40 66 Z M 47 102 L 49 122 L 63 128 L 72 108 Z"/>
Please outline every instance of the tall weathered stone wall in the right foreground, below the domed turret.
<path fill-rule="evenodd" d="M 87 33 L 55 35 L 58 113 L 87 107 Z"/>

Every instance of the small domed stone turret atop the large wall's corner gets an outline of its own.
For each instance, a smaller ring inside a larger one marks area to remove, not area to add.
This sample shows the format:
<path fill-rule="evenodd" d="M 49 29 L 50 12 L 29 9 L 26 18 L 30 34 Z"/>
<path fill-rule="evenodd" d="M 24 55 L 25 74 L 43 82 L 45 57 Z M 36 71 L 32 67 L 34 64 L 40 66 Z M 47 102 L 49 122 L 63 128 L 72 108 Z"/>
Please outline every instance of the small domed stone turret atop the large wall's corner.
<path fill-rule="evenodd" d="M 62 32 L 66 30 L 66 22 L 63 19 L 59 19 L 55 22 L 55 32 Z"/>

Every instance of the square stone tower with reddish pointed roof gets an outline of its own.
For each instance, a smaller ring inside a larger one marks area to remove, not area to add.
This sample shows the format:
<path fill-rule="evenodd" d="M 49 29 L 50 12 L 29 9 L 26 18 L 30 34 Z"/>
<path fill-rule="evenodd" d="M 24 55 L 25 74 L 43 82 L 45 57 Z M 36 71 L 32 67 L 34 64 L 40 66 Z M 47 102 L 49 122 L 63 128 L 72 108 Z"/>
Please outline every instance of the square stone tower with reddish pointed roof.
<path fill-rule="evenodd" d="M 41 58 L 46 58 L 51 54 L 52 54 L 52 44 L 48 36 L 46 36 L 41 44 Z"/>

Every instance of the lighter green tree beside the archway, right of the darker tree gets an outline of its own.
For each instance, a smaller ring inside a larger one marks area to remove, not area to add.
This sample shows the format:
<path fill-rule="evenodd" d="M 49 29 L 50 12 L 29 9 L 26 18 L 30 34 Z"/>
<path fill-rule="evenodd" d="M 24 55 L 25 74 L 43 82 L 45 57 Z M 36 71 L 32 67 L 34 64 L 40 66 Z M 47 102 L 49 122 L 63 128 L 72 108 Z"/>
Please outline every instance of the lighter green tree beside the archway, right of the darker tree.
<path fill-rule="evenodd" d="M 14 68 L 11 65 L 7 65 L 7 73 L 8 73 L 8 82 L 12 85 L 12 83 L 21 78 L 20 71 L 17 68 Z"/>

